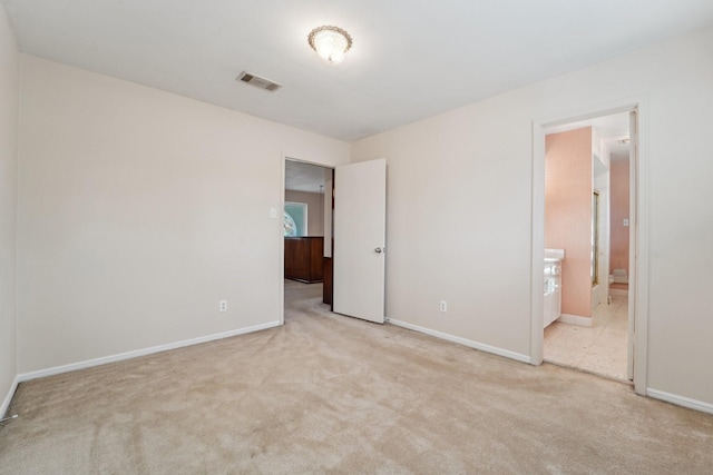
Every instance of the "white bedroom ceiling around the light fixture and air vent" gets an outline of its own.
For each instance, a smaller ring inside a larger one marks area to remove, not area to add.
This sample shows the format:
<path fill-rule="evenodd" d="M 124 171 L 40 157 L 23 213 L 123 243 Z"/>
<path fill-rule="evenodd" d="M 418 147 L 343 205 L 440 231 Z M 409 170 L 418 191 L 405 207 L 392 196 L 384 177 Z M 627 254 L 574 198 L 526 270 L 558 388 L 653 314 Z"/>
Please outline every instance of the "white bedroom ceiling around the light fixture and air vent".
<path fill-rule="evenodd" d="M 23 52 L 346 141 L 713 24 L 711 0 L 0 1 Z M 339 66 L 322 24 L 354 40 Z"/>

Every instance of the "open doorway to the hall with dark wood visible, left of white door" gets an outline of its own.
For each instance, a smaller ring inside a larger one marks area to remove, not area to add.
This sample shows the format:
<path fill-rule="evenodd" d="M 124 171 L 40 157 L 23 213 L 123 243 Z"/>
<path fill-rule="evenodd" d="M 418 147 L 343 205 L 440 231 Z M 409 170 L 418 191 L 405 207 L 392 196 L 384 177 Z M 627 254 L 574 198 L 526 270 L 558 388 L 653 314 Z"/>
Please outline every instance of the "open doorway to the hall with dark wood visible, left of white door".
<path fill-rule="evenodd" d="M 333 169 L 285 160 L 284 316 L 329 311 L 332 304 Z"/>

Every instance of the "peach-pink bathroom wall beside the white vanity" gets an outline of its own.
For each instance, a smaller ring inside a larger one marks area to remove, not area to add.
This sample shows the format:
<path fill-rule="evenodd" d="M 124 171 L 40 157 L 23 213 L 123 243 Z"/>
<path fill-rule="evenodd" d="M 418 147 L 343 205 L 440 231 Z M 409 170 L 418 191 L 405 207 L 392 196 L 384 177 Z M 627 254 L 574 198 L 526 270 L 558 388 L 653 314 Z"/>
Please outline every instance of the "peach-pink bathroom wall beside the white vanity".
<path fill-rule="evenodd" d="M 561 313 L 592 317 L 592 127 L 545 139 L 545 247 L 565 249 Z"/>

